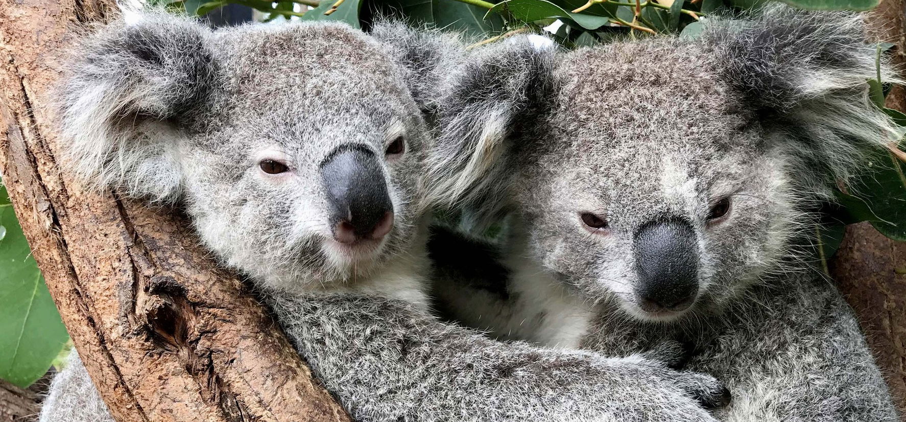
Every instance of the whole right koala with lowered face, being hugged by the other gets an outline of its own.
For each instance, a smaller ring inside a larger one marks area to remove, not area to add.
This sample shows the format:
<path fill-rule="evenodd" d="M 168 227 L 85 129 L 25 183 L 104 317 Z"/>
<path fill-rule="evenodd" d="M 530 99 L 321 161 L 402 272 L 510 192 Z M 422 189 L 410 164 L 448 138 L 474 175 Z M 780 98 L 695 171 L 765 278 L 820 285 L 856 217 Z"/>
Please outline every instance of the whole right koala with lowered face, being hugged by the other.
<path fill-rule="evenodd" d="M 786 7 L 695 40 L 480 53 L 432 168 L 478 222 L 509 214 L 504 271 L 432 240 L 444 312 L 613 355 L 684 341 L 733 393 L 721 420 L 899 420 L 853 312 L 796 258 L 814 205 L 901 135 L 868 98 L 875 53 L 859 15 Z"/>

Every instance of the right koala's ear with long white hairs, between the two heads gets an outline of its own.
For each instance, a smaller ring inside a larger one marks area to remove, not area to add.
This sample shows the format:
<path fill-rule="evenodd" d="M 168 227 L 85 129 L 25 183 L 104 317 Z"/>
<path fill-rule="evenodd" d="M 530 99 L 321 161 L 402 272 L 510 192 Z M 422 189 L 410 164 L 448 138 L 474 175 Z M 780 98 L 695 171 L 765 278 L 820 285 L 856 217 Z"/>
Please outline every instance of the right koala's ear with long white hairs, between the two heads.
<path fill-rule="evenodd" d="M 558 55 L 544 41 L 522 35 L 481 47 L 448 80 L 429 162 L 434 204 L 466 204 L 479 220 L 504 211 L 509 163 L 528 148 L 515 140 L 531 139 L 554 101 Z"/>

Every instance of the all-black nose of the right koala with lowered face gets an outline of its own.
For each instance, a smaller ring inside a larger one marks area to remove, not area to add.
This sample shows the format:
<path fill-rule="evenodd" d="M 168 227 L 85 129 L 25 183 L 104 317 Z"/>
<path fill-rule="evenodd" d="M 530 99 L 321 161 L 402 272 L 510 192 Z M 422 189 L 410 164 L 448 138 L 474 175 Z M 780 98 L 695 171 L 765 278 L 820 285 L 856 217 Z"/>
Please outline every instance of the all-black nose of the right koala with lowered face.
<path fill-rule="evenodd" d="M 633 241 L 639 285 L 647 312 L 685 311 L 699 293 L 699 247 L 695 229 L 683 220 L 642 225 Z"/>

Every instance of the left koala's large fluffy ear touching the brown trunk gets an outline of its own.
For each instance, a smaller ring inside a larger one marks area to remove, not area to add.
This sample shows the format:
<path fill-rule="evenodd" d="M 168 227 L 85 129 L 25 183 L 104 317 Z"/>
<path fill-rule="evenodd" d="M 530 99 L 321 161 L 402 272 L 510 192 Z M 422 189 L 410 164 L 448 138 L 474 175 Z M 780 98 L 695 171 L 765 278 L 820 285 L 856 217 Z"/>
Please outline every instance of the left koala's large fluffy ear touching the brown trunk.
<path fill-rule="evenodd" d="M 178 197 L 178 121 L 210 89 L 208 34 L 194 20 L 142 12 L 82 40 L 56 87 L 64 166 L 92 187 Z"/>

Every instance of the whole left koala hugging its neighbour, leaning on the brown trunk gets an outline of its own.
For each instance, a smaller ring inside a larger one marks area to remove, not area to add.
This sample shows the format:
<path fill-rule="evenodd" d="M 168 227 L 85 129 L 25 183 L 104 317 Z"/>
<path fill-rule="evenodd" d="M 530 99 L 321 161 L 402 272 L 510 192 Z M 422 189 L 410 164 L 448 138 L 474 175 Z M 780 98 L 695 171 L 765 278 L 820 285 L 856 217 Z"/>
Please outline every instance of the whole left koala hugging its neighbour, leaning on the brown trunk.
<path fill-rule="evenodd" d="M 398 24 L 212 31 L 147 14 L 82 43 L 62 90 L 68 162 L 98 187 L 184 207 L 356 420 L 715 420 L 705 407 L 727 393 L 708 375 L 430 315 L 431 99 L 461 51 Z M 70 368 L 42 420 L 109 418 L 93 388 L 73 396 L 90 381 Z"/>

